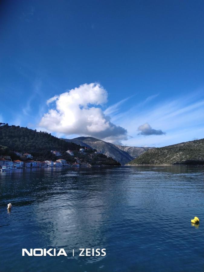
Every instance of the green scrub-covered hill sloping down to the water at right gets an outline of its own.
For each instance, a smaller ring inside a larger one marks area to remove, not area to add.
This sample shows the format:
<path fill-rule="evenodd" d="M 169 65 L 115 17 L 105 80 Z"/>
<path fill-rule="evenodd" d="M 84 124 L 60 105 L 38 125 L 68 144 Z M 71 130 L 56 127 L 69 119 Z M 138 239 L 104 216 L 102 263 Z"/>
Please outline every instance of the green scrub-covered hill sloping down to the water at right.
<path fill-rule="evenodd" d="M 128 164 L 204 164 L 204 139 L 154 148 Z"/>

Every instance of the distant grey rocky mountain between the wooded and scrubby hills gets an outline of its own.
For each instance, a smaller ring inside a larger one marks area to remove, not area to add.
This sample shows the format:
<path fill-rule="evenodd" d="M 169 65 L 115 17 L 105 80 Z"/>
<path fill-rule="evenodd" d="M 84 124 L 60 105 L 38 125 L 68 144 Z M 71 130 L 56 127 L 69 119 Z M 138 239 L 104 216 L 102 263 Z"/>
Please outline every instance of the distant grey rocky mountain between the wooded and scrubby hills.
<path fill-rule="evenodd" d="M 134 158 L 138 157 L 150 147 L 131 147 L 111 144 L 93 137 L 78 137 L 73 139 L 63 139 L 67 142 L 73 142 L 81 146 L 91 147 L 97 151 L 101 151 L 107 157 L 112 157 L 121 164 L 126 164 Z"/>

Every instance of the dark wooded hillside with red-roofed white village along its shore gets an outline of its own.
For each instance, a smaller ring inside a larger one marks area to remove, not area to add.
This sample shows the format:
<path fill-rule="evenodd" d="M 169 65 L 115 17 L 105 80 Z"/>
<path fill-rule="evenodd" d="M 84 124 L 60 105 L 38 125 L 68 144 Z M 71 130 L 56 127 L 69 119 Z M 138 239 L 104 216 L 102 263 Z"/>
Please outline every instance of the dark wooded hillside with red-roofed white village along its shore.
<path fill-rule="evenodd" d="M 67 143 L 47 132 L 0 124 L 0 169 L 98 165 L 120 164 L 99 150 Z"/>

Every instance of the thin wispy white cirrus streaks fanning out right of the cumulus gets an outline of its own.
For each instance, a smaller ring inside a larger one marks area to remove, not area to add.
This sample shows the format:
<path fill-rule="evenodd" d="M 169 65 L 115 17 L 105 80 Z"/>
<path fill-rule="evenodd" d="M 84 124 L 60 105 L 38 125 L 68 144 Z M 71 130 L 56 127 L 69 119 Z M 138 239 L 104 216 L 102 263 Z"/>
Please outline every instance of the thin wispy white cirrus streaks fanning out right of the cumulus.
<path fill-rule="evenodd" d="M 123 142 L 130 146 L 159 147 L 190 141 L 193 138 L 203 138 L 204 96 L 202 93 L 193 92 L 171 100 L 157 99 L 146 103 L 144 102 L 149 99 L 144 99 L 128 111 L 112 116 L 112 120 L 115 124 L 124 126 L 132 136 Z M 146 129 L 142 129 L 143 133 L 138 135 L 137 128 L 145 123 L 151 124 L 151 128 L 147 128 L 146 125 Z M 152 133 L 155 132 L 154 129 L 159 132 Z M 145 137 L 147 134 L 148 137 Z"/>

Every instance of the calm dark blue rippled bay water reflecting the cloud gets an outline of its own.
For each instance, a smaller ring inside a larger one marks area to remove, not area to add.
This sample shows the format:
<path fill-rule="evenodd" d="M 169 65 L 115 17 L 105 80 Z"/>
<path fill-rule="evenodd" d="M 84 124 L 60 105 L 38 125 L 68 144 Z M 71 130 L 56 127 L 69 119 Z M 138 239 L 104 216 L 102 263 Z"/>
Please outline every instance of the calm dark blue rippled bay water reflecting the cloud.
<path fill-rule="evenodd" d="M 203 271 L 203 173 L 186 166 L 0 173 L 0 271 Z M 22 248 L 64 248 L 68 256 L 22 257 Z M 79 257 L 79 248 L 105 248 L 106 256 Z"/>

